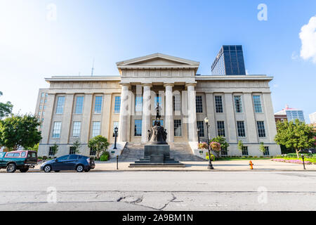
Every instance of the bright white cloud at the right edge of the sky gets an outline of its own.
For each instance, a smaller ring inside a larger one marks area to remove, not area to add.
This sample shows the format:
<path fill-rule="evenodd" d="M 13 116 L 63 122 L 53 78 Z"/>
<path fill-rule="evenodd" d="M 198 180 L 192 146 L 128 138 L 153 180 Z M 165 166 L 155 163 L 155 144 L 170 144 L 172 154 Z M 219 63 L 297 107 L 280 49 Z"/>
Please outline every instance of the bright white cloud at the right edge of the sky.
<path fill-rule="evenodd" d="M 312 59 L 316 63 L 316 15 L 310 18 L 307 25 L 303 25 L 299 35 L 302 41 L 301 58 Z"/>

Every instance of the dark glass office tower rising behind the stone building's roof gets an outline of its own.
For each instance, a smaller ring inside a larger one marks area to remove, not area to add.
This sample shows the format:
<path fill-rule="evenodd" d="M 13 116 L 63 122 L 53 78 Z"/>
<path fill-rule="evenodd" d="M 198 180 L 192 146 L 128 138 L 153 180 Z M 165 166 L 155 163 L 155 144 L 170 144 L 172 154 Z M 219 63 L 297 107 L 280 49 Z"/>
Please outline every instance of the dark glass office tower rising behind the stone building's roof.
<path fill-rule="evenodd" d="M 223 45 L 212 64 L 212 75 L 246 75 L 241 45 Z"/>

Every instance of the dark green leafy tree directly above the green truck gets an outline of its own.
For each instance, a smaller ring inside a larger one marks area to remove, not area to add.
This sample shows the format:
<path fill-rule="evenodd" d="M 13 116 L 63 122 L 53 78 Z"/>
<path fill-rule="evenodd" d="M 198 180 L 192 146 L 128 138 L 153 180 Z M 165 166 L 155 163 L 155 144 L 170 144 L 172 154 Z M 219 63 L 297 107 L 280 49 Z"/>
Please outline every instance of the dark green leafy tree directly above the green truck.
<path fill-rule="evenodd" d="M 41 141 L 41 123 L 33 115 L 11 115 L 0 121 L 0 145 L 13 150 L 33 148 Z"/>

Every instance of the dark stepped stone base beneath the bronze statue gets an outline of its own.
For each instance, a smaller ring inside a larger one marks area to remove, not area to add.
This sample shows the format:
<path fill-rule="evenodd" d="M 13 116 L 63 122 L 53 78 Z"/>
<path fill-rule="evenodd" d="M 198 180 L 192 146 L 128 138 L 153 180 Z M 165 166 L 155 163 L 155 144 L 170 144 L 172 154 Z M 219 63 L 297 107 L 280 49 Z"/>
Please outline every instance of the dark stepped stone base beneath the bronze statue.
<path fill-rule="evenodd" d="M 144 158 L 131 163 L 129 167 L 185 167 L 185 165 L 170 158 L 169 145 L 150 144 L 145 146 Z"/>

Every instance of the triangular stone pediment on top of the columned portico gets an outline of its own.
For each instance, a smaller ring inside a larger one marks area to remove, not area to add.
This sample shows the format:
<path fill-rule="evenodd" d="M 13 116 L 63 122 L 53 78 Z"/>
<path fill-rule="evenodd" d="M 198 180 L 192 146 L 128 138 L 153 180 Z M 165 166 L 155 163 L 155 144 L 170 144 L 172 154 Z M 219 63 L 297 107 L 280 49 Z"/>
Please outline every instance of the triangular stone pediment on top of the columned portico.
<path fill-rule="evenodd" d="M 191 66 L 191 67 L 198 67 L 199 62 L 195 62 L 192 60 L 187 60 L 184 58 L 178 58 L 174 56 L 167 56 L 162 53 L 154 53 L 149 56 L 143 56 L 139 58 L 133 58 L 130 60 L 124 60 L 117 63 L 117 67 L 170 67 L 170 66 Z"/>

